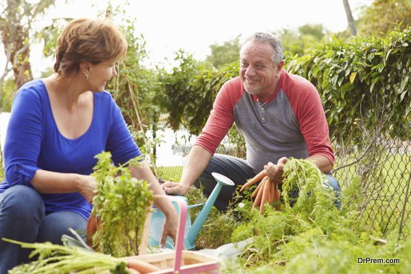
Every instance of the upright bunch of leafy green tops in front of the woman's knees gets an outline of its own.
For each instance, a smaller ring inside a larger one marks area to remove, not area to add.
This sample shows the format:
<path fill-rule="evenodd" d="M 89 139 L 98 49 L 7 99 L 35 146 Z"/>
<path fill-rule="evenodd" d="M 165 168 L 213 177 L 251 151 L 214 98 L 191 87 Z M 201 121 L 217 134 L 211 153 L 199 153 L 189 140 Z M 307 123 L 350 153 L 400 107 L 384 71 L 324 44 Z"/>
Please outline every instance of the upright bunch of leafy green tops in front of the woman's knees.
<path fill-rule="evenodd" d="M 96 156 L 94 167 L 98 182 L 93 198 L 93 216 L 101 217 L 101 229 L 92 237 L 95 249 L 112 256 L 138 254 L 142 229 L 153 197 L 147 182 L 132 177 L 128 164 L 138 166 L 138 158 L 123 166 L 113 166 L 111 153 Z"/>

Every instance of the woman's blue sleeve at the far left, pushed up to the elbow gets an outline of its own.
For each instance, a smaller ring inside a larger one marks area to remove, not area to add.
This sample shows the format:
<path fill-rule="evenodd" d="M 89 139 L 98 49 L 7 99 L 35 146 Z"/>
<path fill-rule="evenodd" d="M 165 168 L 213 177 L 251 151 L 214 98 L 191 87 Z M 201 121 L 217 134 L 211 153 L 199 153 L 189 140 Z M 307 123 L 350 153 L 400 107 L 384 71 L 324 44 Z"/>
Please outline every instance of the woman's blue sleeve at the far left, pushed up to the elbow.
<path fill-rule="evenodd" d="M 10 186 L 32 186 L 30 180 L 39 169 L 42 110 L 40 97 L 29 88 L 20 90 L 14 98 L 4 145 L 5 179 Z"/>

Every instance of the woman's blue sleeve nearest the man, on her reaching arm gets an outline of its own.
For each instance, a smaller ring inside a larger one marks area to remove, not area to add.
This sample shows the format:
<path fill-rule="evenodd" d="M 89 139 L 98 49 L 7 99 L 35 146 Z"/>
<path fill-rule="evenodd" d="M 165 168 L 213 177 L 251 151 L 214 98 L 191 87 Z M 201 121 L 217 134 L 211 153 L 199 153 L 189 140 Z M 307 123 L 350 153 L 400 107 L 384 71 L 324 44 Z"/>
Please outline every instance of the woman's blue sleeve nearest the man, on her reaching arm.
<path fill-rule="evenodd" d="M 107 140 L 107 150 L 112 153 L 114 164 L 124 164 L 130 159 L 141 155 L 132 134 L 130 134 L 123 114 L 118 105 L 111 99 L 112 124 Z"/>

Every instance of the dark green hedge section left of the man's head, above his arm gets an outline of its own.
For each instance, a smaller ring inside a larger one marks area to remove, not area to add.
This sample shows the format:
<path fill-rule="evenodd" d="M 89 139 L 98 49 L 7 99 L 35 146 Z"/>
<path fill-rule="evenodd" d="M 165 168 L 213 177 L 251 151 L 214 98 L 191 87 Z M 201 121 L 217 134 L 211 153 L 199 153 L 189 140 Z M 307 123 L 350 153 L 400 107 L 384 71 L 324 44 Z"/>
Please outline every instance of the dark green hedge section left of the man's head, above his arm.
<path fill-rule="evenodd" d="M 164 109 L 169 113 L 169 125 L 173 129 L 184 126 L 191 134 L 199 134 L 221 84 L 234 77 L 238 67 L 230 64 L 216 70 L 184 51 L 177 52 L 175 61 L 179 66 L 161 79 L 167 97 Z"/>

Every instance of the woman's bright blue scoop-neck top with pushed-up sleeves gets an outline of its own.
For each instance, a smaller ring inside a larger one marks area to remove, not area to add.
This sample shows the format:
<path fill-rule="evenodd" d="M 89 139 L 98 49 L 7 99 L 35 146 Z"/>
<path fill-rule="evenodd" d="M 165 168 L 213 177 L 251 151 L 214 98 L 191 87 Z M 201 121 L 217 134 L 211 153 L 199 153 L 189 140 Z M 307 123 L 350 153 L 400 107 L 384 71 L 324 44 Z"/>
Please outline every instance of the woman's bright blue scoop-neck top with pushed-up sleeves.
<path fill-rule="evenodd" d="M 0 193 L 10 186 L 30 182 L 38 169 L 90 175 L 95 155 L 110 151 L 114 164 L 140 155 L 120 108 L 108 92 L 93 92 L 94 108 L 88 130 L 78 138 L 60 134 L 49 95 L 42 79 L 22 86 L 14 98 L 4 146 L 5 180 Z M 42 194 L 46 214 L 72 211 L 90 216 L 92 206 L 79 192 Z M 23 203 L 24 201 L 22 201 Z"/>

